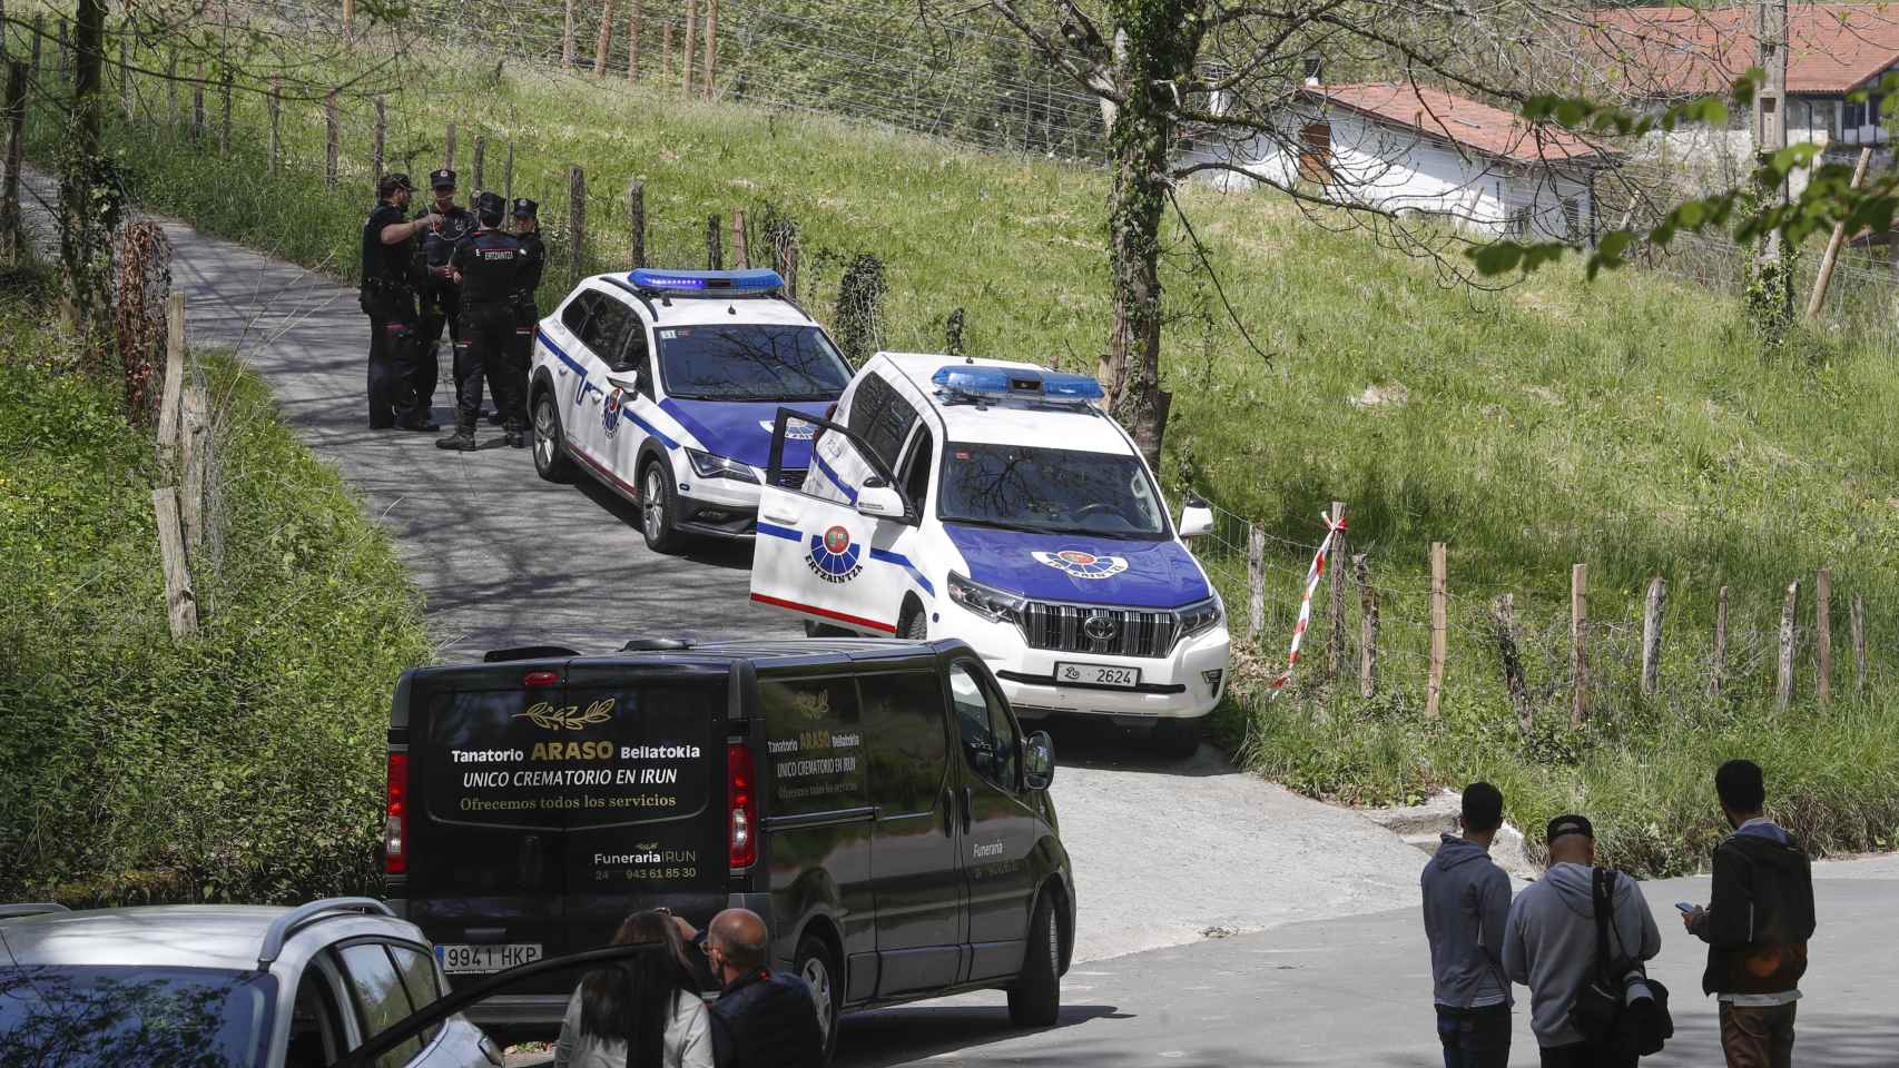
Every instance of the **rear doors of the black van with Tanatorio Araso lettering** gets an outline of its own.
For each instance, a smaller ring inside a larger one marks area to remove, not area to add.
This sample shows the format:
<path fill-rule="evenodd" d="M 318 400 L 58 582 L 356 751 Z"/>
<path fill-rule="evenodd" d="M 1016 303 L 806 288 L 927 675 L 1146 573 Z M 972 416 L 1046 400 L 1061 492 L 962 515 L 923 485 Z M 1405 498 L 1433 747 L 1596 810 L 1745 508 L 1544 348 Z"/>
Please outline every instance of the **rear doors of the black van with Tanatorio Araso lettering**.
<path fill-rule="evenodd" d="M 444 969 L 602 947 L 657 903 L 722 905 L 727 702 L 724 664 L 543 660 L 416 677 L 408 916 Z M 572 977 L 547 979 L 551 994 L 570 988 Z"/>

